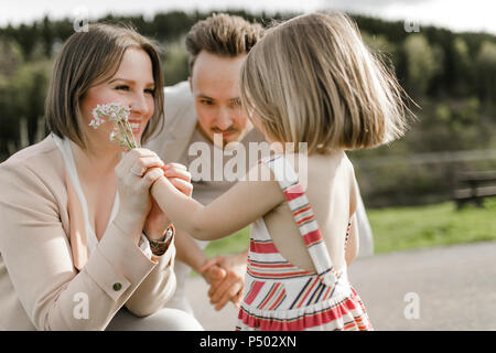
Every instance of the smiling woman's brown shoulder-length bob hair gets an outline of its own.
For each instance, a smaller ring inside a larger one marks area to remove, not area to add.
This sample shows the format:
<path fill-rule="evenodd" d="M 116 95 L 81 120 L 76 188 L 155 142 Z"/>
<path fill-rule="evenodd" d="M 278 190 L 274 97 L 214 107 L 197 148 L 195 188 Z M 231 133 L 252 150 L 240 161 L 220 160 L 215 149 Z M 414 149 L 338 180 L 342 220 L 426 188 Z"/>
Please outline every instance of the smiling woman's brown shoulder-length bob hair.
<path fill-rule="evenodd" d="M 71 35 L 55 61 L 45 101 L 45 117 L 53 133 L 86 147 L 80 129 L 82 98 L 90 87 L 116 74 L 129 47 L 140 49 L 150 56 L 155 84 L 154 113 L 141 142 L 163 124 L 163 74 L 158 46 L 131 26 L 96 23 L 89 24 L 88 32 Z"/>

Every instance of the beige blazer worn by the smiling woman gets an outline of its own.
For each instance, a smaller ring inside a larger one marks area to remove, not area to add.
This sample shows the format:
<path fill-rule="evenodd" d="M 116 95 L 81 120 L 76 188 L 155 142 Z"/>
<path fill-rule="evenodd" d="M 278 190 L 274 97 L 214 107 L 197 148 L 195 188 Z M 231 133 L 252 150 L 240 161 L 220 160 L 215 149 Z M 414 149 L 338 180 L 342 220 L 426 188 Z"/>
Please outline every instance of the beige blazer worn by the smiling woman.
<path fill-rule="evenodd" d="M 175 290 L 173 245 L 148 258 L 114 224 L 88 258 L 79 200 L 48 136 L 0 164 L 0 330 L 105 330 Z"/>

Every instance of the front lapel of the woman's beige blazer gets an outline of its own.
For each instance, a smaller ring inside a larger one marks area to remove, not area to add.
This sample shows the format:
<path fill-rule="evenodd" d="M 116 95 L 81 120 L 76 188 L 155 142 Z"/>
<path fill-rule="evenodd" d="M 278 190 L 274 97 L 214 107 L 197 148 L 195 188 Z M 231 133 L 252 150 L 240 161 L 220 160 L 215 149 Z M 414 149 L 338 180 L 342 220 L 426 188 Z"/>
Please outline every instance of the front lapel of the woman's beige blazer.
<path fill-rule="evenodd" d="M 74 267 L 76 267 L 80 271 L 88 260 L 86 226 L 83 216 L 84 213 L 79 203 L 79 197 L 77 197 L 76 190 L 74 190 L 66 170 L 64 170 L 64 174 L 65 184 L 67 185 L 67 211 L 69 216 L 71 249 L 73 253 Z"/>

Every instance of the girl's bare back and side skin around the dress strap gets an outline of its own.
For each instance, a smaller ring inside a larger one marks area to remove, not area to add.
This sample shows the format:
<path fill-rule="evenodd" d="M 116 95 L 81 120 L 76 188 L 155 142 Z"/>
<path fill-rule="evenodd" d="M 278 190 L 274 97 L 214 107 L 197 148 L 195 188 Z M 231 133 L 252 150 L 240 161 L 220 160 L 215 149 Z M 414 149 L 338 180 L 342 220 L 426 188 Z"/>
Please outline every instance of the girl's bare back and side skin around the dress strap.
<path fill-rule="evenodd" d="M 299 172 L 299 159 L 287 160 Z M 303 175 L 299 180 L 315 214 L 334 268 L 339 270 L 345 266 L 345 236 L 348 221 L 355 212 L 353 165 L 343 151 L 312 154 L 306 161 L 306 172 L 302 170 Z M 280 254 L 296 267 L 315 271 L 288 203 L 272 210 L 263 220 Z"/>

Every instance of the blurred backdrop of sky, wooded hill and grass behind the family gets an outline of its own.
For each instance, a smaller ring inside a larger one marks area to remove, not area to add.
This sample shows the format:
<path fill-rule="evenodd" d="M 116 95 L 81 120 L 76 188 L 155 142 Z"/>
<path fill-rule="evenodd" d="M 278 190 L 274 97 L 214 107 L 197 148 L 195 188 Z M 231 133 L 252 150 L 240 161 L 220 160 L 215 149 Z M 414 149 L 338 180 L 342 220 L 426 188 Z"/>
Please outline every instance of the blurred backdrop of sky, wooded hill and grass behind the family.
<path fill-rule="evenodd" d="M 162 46 L 166 85 L 187 78 L 184 35 L 212 12 L 263 24 L 338 9 L 417 103 L 389 146 L 354 151 L 375 252 L 496 239 L 496 24 L 492 1 L 25 1 L 0 4 L 0 162 L 47 135 L 54 57 L 85 22 L 132 23 Z M 460 210 L 459 210 L 460 208 Z M 400 231 L 399 231 L 400 229 Z M 246 247 L 247 233 L 209 254 Z"/>

